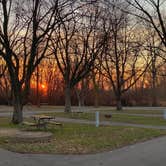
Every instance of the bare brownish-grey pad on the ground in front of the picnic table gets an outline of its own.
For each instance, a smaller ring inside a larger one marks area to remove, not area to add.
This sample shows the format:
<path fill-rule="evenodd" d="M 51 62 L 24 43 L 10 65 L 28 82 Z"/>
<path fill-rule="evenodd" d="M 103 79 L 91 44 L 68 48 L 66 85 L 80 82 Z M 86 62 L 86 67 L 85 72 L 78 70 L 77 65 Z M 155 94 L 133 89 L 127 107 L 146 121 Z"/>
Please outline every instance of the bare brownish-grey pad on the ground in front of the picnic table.
<path fill-rule="evenodd" d="M 21 131 L 18 129 L 0 129 L 0 137 L 9 137 L 12 142 L 45 142 L 50 141 L 53 134 L 40 131 Z"/>

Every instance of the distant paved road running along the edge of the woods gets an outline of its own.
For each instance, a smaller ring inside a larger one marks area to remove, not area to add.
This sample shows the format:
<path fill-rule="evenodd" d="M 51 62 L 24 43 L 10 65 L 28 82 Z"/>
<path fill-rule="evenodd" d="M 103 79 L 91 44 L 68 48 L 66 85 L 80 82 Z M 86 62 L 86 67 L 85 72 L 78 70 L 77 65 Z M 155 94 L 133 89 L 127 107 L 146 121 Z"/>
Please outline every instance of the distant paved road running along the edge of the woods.
<path fill-rule="evenodd" d="M 37 110 L 35 110 L 37 109 Z M 97 111 L 97 110 L 104 110 L 104 111 L 108 111 L 111 114 L 124 114 L 124 115 L 131 115 L 131 116 L 143 116 L 143 117 L 163 117 L 163 114 L 157 114 L 157 111 L 164 111 L 166 110 L 165 107 L 124 107 L 124 110 L 145 110 L 145 114 L 136 114 L 134 113 L 125 113 L 125 112 L 113 112 L 111 110 L 115 110 L 115 107 L 99 107 L 99 108 L 94 108 L 94 107 L 72 107 L 73 111 L 83 111 L 83 112 L 92 112 L 92 111 Z M 146 114 L 146 110 L 155 110 L 156 114 Z M 12 116 L 12 112 L 13 112 L 13 107 L 11 106 L 0 106 L 0 117 L 9 117 Z M 50 106 L 49 108 L 47 106 L 42 106 L 41 108 L 37 108 L 35 106 L 33 107 L 27 107 L 25 106 L 23 114 L 24 116 L 31 116 L 34 114 L 38 114 L 38 113 L 48 113 L 48 112 L 64 112 L 64 108 L 63 107 L 54 107 L 54 106 Z M 105 114 L 105 112 L 100 112 Z"/>

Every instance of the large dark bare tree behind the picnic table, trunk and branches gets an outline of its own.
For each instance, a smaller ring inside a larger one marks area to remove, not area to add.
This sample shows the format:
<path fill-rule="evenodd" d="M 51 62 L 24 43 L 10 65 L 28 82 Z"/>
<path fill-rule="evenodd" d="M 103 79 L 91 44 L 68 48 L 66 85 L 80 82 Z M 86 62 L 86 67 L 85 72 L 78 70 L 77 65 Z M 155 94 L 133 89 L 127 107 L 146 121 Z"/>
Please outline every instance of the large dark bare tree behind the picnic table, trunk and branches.
<path fill-rule="evenodd" d="M 10 75 L 13 94 L 13 123 L 23 120 L 32 73 L 47 53 L 50 36 L 59 22 L 57 11 L 67 1 L 1 0 L 0 56 Z"/>

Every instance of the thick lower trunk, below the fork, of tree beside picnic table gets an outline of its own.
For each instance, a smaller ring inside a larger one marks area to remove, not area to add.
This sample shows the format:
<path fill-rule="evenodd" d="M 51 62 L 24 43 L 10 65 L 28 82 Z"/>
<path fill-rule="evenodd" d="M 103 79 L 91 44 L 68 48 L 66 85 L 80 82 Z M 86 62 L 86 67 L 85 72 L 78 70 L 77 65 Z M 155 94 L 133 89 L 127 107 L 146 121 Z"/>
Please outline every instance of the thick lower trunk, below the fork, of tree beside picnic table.
<path fill-rule="evenodd" d="M 14 94 L 14 101 L 13 101 L 14 111 L 13 111 L 13 117 L 12 122 L 14 124 L 22 123 L 23 121 L 23 104 L 21 96 L 18 92 L 15 92 Z"/>

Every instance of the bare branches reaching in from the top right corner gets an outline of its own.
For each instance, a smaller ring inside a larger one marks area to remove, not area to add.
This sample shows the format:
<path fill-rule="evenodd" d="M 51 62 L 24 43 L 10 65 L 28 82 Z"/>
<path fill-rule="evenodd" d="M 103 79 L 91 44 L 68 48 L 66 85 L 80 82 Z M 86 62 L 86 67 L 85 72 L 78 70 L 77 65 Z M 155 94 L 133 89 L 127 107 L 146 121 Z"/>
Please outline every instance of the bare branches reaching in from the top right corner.
<path fill-rule="evenodd" d="M 166 46 L 165 0 L 126 0 L 133 8 L 130 14 L 139 17 L 153 27 Z M 135 10 L 136 9 L 136 10 Z"/>

